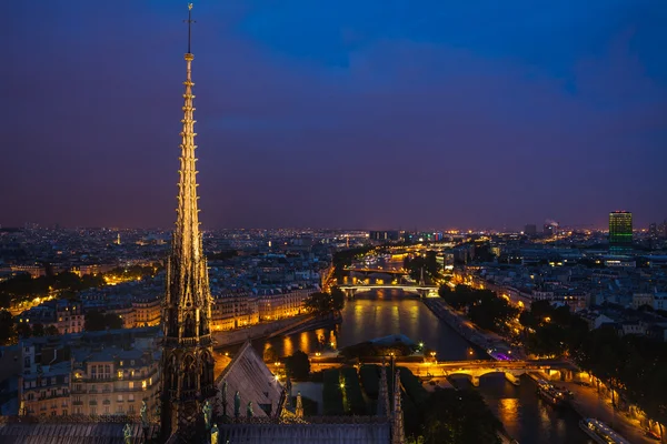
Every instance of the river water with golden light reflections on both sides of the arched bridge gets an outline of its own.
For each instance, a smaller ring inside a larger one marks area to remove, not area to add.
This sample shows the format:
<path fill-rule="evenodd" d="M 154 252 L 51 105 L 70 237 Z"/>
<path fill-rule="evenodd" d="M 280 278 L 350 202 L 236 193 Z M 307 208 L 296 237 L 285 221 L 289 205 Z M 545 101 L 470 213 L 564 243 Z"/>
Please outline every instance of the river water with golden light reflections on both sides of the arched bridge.
<path fill-rule="evenodd" d="M 421 301 L 399 290 L 361 293 L 347 301 L 342 322 L 336 329 L 297 333 L 256 346 L 271 347 L 279 356 L 285 356 L 297 350 L 315 352 L 321 337 L 344 347 L 390 334 L 405 334 L 415 342 L 424 342 L 437 351 L 438 361 L 488 359 L 438 320 Z M 457 380 L 457 384 L 469 385 L 469 382 Z M 579 430 L 576 413 L 568 408 L 555 410 L 542 402 L 528 377 L 521 379 L 520 386 L 515 386 L 501 375 L 484 376 L 479 391 L 505 424 L 507 433 L 520 444 L 593 443 Z"/>

